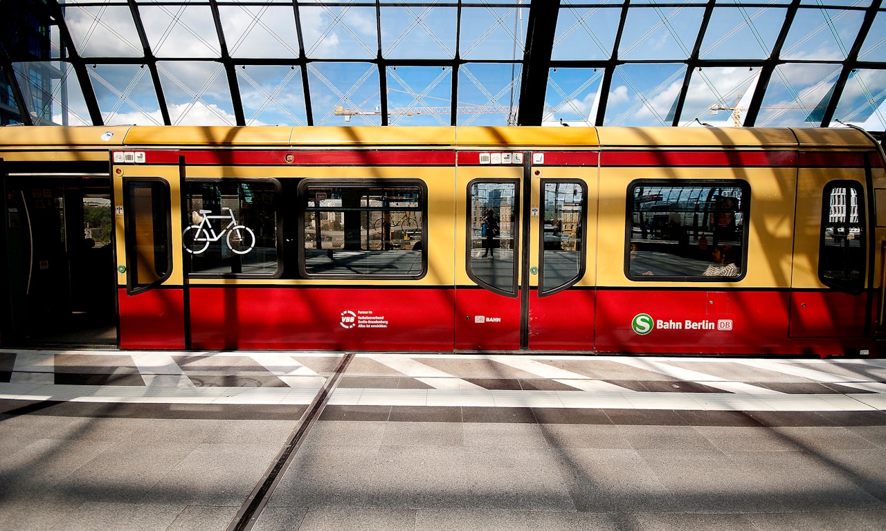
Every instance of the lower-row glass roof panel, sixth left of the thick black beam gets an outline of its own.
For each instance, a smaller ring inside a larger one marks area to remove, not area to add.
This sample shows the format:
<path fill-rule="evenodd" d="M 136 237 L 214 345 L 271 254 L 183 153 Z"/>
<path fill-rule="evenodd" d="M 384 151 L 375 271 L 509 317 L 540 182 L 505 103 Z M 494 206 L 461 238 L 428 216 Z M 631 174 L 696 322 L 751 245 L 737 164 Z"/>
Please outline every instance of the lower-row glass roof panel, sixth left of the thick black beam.
<path fill-rule="evenodd" d="M 88 69 L 106 126 L 163 125 L 151 73 L 140 65 L 95 65 Z"/>

